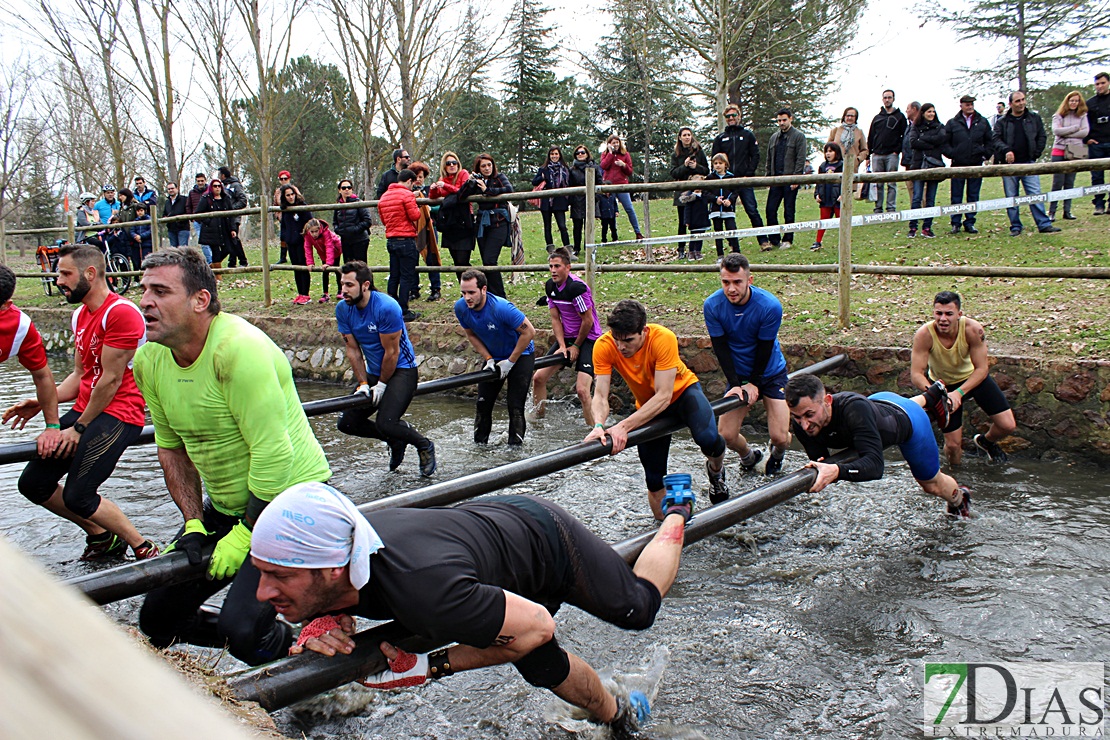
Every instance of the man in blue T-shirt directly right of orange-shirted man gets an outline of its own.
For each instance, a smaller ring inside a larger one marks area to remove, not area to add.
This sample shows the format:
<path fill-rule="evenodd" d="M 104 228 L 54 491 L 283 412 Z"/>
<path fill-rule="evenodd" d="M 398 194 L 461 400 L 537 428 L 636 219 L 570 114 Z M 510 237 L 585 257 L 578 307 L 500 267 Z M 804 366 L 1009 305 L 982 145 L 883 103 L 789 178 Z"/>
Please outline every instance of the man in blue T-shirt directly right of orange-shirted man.
<path fill-rule="evenodd" d="M 763 397 L 770 434 L 766 472 L 771 475 L 783 469 L 783 456 L 790 446 L 790 413 L 783 394 L 786 358 L 778 346 L 783 304 L 751 284 L 751 265 L 743 254 L 734 252 L 725 256 L 720 263 L 720 285 L 719 291 L 705 300 L 705 325 L 728 382 L 725 396 L 736 396 L 746 403 L 722 415 L 717 430 L 740 456 L 740 466 L 746 470 L 754 468 L 763 459 L 763 450 L 748 446 L 740 425 L 751 404 Z M 707 472 L 713 503 L 728 498 L 724 467 Z"/>

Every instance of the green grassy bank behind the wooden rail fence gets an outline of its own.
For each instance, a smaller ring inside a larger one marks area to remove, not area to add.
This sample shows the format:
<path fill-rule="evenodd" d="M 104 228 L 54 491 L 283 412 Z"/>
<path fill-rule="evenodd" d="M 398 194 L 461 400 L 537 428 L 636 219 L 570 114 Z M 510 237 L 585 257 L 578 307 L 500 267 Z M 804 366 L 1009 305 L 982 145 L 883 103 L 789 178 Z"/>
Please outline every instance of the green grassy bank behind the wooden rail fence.
<path fill-rule="evenodd" d="M 1082 178 L 1086 181 L 1086 176 Z M 1048 190 L 1050 178 L 1042 179 Z M 760 204 L 765 191 L 757 192 Z M 1001 182 L 983 183 L 982 199 L 1000 197 Z M 899 191 L 899 207 L 907 207 L 905 189 Z M 948 202 L 948 185 L 941 184 L 938 204 Z M 857 201 L 857 212 L 870 209 L 869 203 Z M 1110 266 L 1108 237 L 1110 216 L 1093 217 L 1089 200 L 1074 204 L 1078 221 L 1057 221 L 1063 232 L 1038 234 L 1032 227 L 1028 206 L 1021 219 L 1027 231 L 1019 237 L 1009 236 L 1009 222 L 1005 211 L 979 214 L 981 234 L 948 236 L 947 220 L 938 220 L 937 239 L 906 237 L 906 224 L 858 227 L 852 231 L 852 262 L 856 264 L 905 265 L 1009 265 L 1009 266 Z M 1061 211 L 1062 213 L 1062 211 Z M 674 234 L 677 230 L 676 211 L 670 200 L 656 200 L 650 204 L 652 234 Z M 817 219 L 813 191 L 798 195 L 799 221 Z M 522 214 L 526 261 L 529 264 L 546 262 L 543 222 L 536 212 Z M 747 226 L 741 214 L 739 226 Z M 630 229 L 622 212 L 618 217 L 622 239 L 630 237 Z M 556 240 L 557 240 L 556 235 Z M 760 253 L 754 239 L 741 240 L 741 250 L 756 264 L 813 264 L 836 261 L 837 233 L 828 232 L 825 247 L 810 252 L 811 232 L 796 235 L 791 250 Z M 252 263 L 260 261 L 258 243 L 248 245 Z M 726 245 L 727 249 L 727 245 Z M 703 249 L 704 263 L 715 259 L 712 243 Z M 674 246 L 656 247 L 656 259 L 673 261 Z M 276 257 L 276 250 L 272 252 Z M 443 254 L 445 260 L 450 255 Z M 477 253 L 474 253 L 477 259 Z M 385 240 L 375 235 L 371 240 L 370 261 L 387 264 Z M 603 247 L 603 263 L 639 263 L 645 261 L 642 249 Z M 508 262 L 508 251 L 502 263 Z M 9 257 L 16 267 L 33 270 L 33 257 Z M 525 274 L 506 277 L 509 298 L 532 318 L 538 327 L 547 327 L 547 310 L 535 305 L 543 291 L 546 274 Z M 837 322 L 837 287 L 834 274 L 760 273 L 756 284 L 771 291 L 783 301 L 784 322 L 780 338 L 785 343 L 845 344 L 856 346 L 908 347 L 914 331 L 930 317 L 931 300 L 941 290 L 955 290 L 963 297 L 965 312 L 987 327 L 987 341 L 996 354 L 1032 355 L 1045 357 L 1110 357 L 1110 298 L 1107 281 L 1100 280 L 1046 280 L 1046 278 L 981 278 L 944 276 L 855 275 L 851 291 L 851 326 L 841 330 Z M 514 282 L 515 281 L 515 282 Z M 379 277 L 384 288 L 385 275 Z M 427 295 L 427 277 L 421 276 L 422 290 Z M 451 300 L 436 304 L 423 300 L 413 307 L 423 318 L 433 322 L 454 322 L 452 300 L 457 295 L 452 275 L 443 275 L 444 295 Z M 320 294 L 320 275 L 312 278 L 313 296 Z M 648 306 L 650 321 L 670 326 L 679 334 L 702 334 L 702 302 L 718 287 L 714 273 L 604 273 L 597 276 L 597 300 L 604 310 L 622 298 L 637 298 Z M 334 287 L 332 288 L 334 294 Z M 137 298 L 132 290 L 129 297 Z M 293 306 L 295 295 L 291 273 L 273 274 L 273 305 L 263 303 L 261 275 L 224 277 L 221 298 L 224 307 L 235 313 L 258 315 L 330 315 L 333 306 L 313 303 Z M 24 306 L 60 306 L 56 295 L 48 298 L 33 281 L 20 281 L 16 301 Z"/>

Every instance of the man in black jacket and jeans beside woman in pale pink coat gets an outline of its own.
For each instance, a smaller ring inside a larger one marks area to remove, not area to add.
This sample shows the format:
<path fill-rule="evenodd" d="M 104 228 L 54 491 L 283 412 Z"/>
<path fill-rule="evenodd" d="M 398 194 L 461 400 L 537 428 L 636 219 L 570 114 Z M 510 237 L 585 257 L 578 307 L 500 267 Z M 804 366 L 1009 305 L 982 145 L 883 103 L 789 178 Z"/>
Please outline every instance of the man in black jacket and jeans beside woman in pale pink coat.
<path fill-rule="evenodd" d="M 1001 160 L 1006 164 L 1036 162 L 1045 151 L 1046 139 L 1045 123 L 1040 115 L 1026 108 L 1025 91 L 1011 92 L 1010 110 L 995 124 L 995 161 Z M 1007 197 L 1016 196 L 1019 186 L 1026 189 L 1026 195 L 1040 195 L 1040 176 L 1028 174 L 1002 178 L 1002 190 Z M 1033 214 L 1037 230 L 1042 234 L 1060 231 L 1049 221 L 1045 206 L 1040 203 L 1030 203 L 1029 211 Z M 1010 236 L 1019 236 L 1022 226 L 1018 206 L 1006 209 L 1006 215 L 1010 217 Z"/>

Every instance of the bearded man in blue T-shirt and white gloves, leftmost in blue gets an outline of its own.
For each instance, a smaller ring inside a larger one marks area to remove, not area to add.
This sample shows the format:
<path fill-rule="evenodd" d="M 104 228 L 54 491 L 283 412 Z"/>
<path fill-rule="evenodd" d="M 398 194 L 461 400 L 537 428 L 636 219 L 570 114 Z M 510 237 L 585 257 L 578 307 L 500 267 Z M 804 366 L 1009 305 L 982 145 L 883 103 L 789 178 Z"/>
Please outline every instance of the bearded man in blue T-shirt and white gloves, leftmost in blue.
<path fill-rule="evenodd" d="M 356 394 L 369 396 L 372 404 L 350 408 L 340 416 L 343 434 L 382 439 L 390 446 L 390 470 L 405 457 L 408 445 L 420 453 L 420 474 L 435 473 L 435 445 L 407 422 L 401 420 L 416 392 L 416 353 L 401 304 L 374 290 L 374 276 L 365 262 L 349 262 L 340 267 L 340 296 L 335 323 L 346 349 L 347 361 L 359 381 Z M 377 419 L 370 418 L 377 409 Z"/>

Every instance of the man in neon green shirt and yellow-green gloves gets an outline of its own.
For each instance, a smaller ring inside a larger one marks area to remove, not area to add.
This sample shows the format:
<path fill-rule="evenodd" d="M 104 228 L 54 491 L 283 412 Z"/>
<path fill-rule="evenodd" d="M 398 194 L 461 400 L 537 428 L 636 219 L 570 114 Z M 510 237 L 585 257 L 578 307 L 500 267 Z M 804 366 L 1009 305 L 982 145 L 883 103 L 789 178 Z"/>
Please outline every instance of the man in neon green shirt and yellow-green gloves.
<path fill-rule="evenodd" d="M 183 550 L 199 565 L 204 545 L 215 550 L 205 580 L 151 591 L 139 627 L 158 647 L 226 645 L 243 662 L 269 662 L 286 653 L 292 631 L 254 598 L 251 528 L 285 488 L 327 480 L 327 459 L 285 355 L 261 330 L 220 312 L 215 277 L 200 252 L 152 254 L 141 284 L 148 342 L 135 353 L 134 376 L 154 422 L 167 488 L 185 519 L 165 551 Z M 229 584 L 215 620 L 201 606 Z"/>

